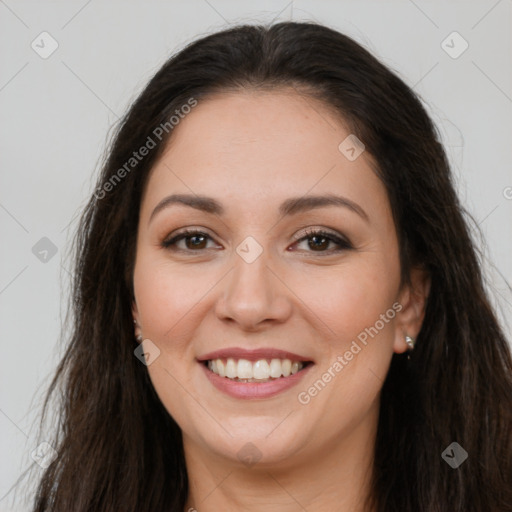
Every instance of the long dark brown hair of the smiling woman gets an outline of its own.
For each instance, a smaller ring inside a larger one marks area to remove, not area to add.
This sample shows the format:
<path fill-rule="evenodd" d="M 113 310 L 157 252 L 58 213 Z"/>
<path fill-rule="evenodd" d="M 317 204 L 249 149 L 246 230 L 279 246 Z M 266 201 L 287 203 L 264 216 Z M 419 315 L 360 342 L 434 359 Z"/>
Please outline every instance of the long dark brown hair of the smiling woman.
<path fill-rule="evenodd" d="M 141 196 L 172 130 L 122 181 L 104 185 L 190 98 L 263 87 L 320 99 L 364 142 L 389 195 L 402 282 L 413 266 L 431 277 L 416 349 L 410 361 L 393 356 L 383 386 L 369 504 L 512 510 L 512 359 L 438 133 L 411 89 L 359 44 L 292 22 L 190 44 L 121 120 L 75 239 L 71 339 L 44 404 L 46 413 L 59 393 L 58 457 L 33 510 L 183 511 L 181 431 L 134 357 L 131 315 Z M 457 469 L 441 457 L 454 441 L 469 454 Z"/>

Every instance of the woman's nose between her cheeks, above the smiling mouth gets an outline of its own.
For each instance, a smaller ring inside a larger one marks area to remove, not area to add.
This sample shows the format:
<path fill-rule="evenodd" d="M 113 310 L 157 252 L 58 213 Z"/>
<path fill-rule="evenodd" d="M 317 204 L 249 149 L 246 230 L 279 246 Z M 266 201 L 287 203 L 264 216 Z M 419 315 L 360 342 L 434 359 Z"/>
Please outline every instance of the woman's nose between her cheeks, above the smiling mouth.
<path fill-rule="evenodd" d="M 265 251 L 252 263 L 237 254 L 234 259 L 234 268 L 222 281 L 224 289 L 215 307 L 217 317 L 245 331 L 285 322 L 292 312 L 293 294 L 269 266 Z"/>

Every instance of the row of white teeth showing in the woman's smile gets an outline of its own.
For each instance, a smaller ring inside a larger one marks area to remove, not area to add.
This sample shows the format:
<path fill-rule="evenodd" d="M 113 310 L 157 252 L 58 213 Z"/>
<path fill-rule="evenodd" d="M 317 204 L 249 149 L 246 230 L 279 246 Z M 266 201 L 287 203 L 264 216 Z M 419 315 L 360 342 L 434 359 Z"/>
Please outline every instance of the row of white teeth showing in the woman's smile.
<path fill-rule="evenodd" d="M 246 382 L 268 381 L 278 379 L 279 377 L 289 377 L 304 368 L 301 361 L 291 361 L 290 359 L 259 359 L 258 361 L 248 361 L 247 359 L 233 358 L 214 359 L 208 361 L 208 368 L 221 377 L 228 379 L 240 379 Z"/>

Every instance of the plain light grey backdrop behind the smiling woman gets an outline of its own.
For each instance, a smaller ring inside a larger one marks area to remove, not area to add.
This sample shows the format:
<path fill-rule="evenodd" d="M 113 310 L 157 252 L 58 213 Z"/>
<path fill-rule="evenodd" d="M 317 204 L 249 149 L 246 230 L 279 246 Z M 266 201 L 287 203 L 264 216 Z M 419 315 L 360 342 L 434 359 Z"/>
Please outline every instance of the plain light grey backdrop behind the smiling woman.
<path fill-rule="evenodd" d="M 15 482 L 34 464 L 34 422 L 63 351 L 69 241 L 109 128 L 184 44 L 291 19 L 354 37 L 422 97 L 485 237 L 490 293 L 510 335 L 510 0 L 0 1 L 0 511 L 28 510 L 12 503 Z"/>

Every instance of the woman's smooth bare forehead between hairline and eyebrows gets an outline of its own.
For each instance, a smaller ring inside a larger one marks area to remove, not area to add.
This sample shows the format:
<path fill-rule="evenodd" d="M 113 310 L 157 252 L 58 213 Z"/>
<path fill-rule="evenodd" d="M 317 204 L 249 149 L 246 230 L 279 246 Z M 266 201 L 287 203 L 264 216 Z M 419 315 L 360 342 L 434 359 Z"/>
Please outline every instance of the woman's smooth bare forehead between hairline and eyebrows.
<path fill-rule="evenodd" d="M 363 152 L 350 161 L 340 151 L 349 135 L 337 113 L 294 90 L 218 93 L 174 127 L 145 202 L 154 206 L 171 192 L 196 193 L 238 201 L 257 213 L 273 197 L 281 202 L 339 192 L 385 206 L 371 158 Z"/>

